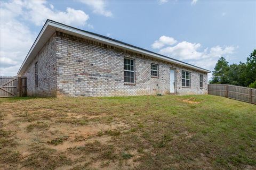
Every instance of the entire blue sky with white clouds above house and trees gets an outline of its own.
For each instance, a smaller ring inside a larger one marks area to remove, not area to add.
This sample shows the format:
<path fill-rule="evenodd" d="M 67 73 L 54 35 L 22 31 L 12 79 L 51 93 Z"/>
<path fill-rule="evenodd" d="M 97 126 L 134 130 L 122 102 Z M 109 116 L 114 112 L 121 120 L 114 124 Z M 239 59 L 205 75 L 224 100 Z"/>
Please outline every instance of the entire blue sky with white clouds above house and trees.
<path fill-rule="evenodd" d="M 256 49 L 256 1 L 0 1 L 0 76 L 15 76 L 46 19 L 204 69 Z M 211 78 L 211 74 L 209 74 Z"/>

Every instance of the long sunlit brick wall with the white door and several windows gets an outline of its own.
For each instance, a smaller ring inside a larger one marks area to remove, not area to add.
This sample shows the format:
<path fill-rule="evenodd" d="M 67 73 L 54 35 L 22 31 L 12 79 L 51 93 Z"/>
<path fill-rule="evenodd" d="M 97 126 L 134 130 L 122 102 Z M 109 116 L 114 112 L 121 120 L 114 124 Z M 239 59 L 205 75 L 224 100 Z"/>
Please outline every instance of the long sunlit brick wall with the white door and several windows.
<path fill-rule="evenodd" d="M 177 94 L 206 94 L 207 74 L 56 32 L 58 96 L 131 96 L 168 94 L 170 68 L 175 69 Z M 124 83 L 123 58 L 135 60 L 135 85 Z M 151 78 L 150 64 L 159 64 L 159 78 Z M 181 85 L 181 71 L 191 72 L 191 88 Z M 203 88 L 199 88 L 203 74 Z M 158 84 L 158 86 L 157 86 Z"/>

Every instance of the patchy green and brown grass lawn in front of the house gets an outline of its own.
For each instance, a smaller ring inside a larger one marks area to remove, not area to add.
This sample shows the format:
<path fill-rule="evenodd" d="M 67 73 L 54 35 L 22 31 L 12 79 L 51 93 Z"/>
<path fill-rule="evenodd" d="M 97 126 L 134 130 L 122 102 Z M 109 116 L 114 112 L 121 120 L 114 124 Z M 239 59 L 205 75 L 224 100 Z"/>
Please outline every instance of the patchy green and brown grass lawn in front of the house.
<path fill-rule="evenodd" d="M 211 95 L 2 98 L 0 169 L 256 169 L 256 105 Z"/>

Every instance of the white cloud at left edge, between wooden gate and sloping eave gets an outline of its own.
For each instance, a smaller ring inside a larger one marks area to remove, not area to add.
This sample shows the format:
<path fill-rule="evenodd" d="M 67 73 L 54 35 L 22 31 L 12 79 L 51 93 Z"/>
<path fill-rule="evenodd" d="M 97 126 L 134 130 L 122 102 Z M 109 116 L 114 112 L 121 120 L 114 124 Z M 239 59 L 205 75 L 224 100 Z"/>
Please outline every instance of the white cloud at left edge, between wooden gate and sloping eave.
<path fill-rule="evenodd" d="M 1 20 L 0 29 L 0 74 L 14 76 L 36 35 L 15 19 L 7 22 Z"/>

